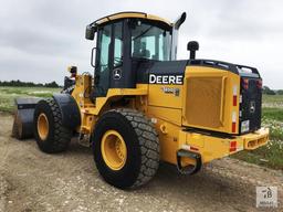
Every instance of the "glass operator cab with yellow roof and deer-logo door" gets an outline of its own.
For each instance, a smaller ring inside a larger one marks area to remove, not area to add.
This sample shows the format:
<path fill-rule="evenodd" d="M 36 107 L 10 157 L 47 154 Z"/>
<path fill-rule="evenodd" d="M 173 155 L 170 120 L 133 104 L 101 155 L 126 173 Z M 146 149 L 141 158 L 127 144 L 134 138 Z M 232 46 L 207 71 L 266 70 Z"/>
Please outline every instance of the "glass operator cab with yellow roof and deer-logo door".
<path fill-rule="evenodd" d="M 186 13 L 181 15 L 181 23 Z M 94 21 L 85 38 L 94 40 L 92 54 L 94 98 L 107 95 L 108 88 L 135 88 L 140 63 L 176 59 L 176 23 L 140 12 L 122 12 Z M 178 25 L 179 24 L 179 25 Z M 95 64 L 93 64 L 95 63 Z"/>

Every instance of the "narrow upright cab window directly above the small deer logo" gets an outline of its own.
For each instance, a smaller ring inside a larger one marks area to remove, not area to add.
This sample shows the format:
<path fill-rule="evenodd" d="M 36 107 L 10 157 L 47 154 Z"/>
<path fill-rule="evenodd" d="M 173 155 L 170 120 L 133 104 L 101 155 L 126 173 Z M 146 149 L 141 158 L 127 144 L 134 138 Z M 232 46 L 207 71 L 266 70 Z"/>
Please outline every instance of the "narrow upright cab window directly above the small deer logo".
<path fill-rule="evenodd" d="M 114 68 L 123 64 L 123 23 L 114 24 Z"/>

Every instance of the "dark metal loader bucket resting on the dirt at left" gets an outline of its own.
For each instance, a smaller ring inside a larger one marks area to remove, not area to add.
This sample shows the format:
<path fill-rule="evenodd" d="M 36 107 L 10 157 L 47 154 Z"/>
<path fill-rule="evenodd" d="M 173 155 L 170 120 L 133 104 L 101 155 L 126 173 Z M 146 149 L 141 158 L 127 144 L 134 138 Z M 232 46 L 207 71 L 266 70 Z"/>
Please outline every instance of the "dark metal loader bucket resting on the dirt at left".
<path fill-rule="evenodd" d="M 33 113 L 41 98 L 15 98 L 15 114 L 12 137 L 25 139 L 33 137 Z"/>

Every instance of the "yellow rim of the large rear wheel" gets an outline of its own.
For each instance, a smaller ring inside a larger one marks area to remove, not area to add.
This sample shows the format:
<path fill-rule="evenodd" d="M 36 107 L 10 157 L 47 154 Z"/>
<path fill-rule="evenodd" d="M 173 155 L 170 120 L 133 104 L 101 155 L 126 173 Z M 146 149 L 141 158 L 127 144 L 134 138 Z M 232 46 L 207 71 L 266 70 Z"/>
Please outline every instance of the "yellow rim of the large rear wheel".
<path fill-rule="evenodd" d="M 102 138 L 102 156 L 107 165 L 113 170 L 120 170 L 127 159 L 127 147 L 123 137 L 116 130 L 108 130 Z"/>

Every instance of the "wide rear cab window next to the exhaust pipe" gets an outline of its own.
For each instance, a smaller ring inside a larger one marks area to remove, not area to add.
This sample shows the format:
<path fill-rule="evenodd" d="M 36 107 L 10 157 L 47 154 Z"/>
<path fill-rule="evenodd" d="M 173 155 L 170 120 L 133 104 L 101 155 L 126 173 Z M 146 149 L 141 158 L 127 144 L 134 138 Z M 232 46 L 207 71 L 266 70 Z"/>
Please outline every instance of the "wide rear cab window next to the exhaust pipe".
<path fill-rule="evenodd" d="M 169 61 L 171 35 L 168 30 L 138 22 L 132 29 L 132 56 Z"/>

